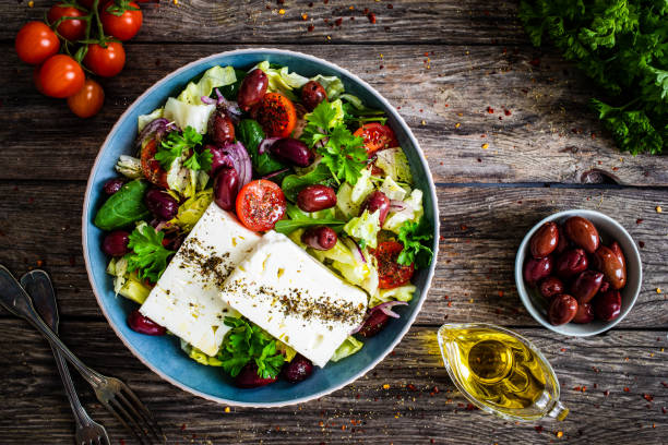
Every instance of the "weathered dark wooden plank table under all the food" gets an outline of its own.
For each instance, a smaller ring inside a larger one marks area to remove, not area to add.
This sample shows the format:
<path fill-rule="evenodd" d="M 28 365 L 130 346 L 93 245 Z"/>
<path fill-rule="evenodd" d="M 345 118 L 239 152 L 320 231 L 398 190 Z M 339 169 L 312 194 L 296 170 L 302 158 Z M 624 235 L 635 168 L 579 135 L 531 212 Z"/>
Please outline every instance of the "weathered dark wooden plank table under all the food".
<path fill-rule="evenodd" d="M 0 263 L 51 274 L 64 341 L 135 388 L 169 443 L 668 442 L 668 158 L 616 149 L 587 109 L 588 81 L 556 51 L 529 45 L 515 2 L 163 0 L 143 8 L 126 69 L 103 82 L 105 107 L 90 120 L 40 96 L 13 51 L 16 31 L 51 3 L 0 0 Z M 331 396 L 272 410 L 193 397 L 141 364 L 103 317 L 81 250 L 88 171 L 120 113 L 180 65 L 247 47 L 323 57 L 378 88 L 419 140 L 441 205 L 433 287 L 396 350 Z M 566 208 L 613 216 L 641 248 L 642 292 L 607 335 L 552 334 L 515 290 L 522 237 Z M 472 409 L 438 353 L 443 322 L 493 322 L 534 340 L 559 375 L 569 418 L 515 424 Z M 0 326 L 0 443 L 71 444 L 73 420 L 46 341 L 5 312 Z M 114 444 L 134 443 L 81 380 L 77 387 Z"/>

